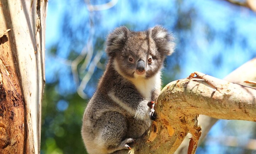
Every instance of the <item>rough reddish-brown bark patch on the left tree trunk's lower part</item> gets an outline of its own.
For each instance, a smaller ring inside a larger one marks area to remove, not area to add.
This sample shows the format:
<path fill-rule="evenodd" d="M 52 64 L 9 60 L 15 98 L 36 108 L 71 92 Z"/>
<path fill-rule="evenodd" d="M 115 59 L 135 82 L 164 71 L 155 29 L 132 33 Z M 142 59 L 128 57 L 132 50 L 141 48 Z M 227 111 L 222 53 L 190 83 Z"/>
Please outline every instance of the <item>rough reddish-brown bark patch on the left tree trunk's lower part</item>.
<path fill-rule="evenodd" d="M 1 39 L 1 38 L 0 38 Z M 17 77 L 0 55 L 0 153 L 23 151 L 24 143 L 24 98 Z M 1 150 L 5 149 L 5 150 Z"/>

